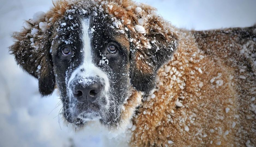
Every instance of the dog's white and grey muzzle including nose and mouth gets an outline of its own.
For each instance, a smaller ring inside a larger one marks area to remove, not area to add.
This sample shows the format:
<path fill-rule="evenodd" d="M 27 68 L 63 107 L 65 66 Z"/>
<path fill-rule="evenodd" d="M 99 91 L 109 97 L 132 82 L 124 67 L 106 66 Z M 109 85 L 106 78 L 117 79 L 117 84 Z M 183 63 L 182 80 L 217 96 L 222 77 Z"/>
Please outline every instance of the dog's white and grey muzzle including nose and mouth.
<path fill-rule="evenodd" d="M 109 109 L 108 88 L 108 77 L 98 68 L 74 71 L 67 86 L 71 119 L 90 121 L 104 116 Z"/>

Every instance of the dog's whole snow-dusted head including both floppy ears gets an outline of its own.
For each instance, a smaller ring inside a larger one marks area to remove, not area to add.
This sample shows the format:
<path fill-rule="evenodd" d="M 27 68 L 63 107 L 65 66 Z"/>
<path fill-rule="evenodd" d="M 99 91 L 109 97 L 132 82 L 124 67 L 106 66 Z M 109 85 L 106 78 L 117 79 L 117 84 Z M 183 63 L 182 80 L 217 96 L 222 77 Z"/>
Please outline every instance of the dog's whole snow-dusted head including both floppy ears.
<path fill-rule="evenodd" d="M 177 48 L 170 25 L 130 0 L 58 1 L 40 17 L 14 34 L 10 51 L 43 96 L 60 91 L 64 118 L 77 125 L 129 120 L 139 104 L 129 100 L 155 87 Z"/>

